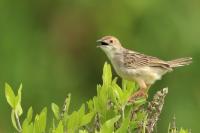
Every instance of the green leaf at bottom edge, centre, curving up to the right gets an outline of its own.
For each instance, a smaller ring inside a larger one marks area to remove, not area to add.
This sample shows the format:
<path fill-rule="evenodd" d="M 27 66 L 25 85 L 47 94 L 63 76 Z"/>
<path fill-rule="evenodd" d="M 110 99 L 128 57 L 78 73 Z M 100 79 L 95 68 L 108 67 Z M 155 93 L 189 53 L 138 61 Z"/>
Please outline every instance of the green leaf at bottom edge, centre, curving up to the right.
<path fill-rule="evenodd" d="M 121 116 L 117 115 L 114 118 L 107 120 L 101 127 L 101 133 L 113 133 L 114 132 L 114 123 L 119 120 Z"/>

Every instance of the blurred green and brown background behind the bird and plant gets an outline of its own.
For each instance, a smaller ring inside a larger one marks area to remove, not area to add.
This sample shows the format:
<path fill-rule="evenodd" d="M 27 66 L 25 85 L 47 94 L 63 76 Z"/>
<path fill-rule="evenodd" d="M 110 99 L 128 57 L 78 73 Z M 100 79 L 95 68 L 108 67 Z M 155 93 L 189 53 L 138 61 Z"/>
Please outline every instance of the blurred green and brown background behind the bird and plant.
<path fill-rule="evenodd" d="M 23 83 L 22 106 L 39 112 L 51 102 L 72 106 L 96 94 L 107 57 L 96 48 L 104 35 L 145 54 L 170 60 L 192 56 L 193 64 L 156 82 L 150 95 L 168 86 L 158 132 L 173 115 L 177 125 L 200 131 L 200 1 L 198 0 L 1 0 L 0 132 L 13 132 L 4 83 L 16 92 Z M 115 74 L 116 75 L 116 74 Z M 50 112 L 50 111 L 49 111 Z M 50 115 L 49 115 L 50 116 Z"/>

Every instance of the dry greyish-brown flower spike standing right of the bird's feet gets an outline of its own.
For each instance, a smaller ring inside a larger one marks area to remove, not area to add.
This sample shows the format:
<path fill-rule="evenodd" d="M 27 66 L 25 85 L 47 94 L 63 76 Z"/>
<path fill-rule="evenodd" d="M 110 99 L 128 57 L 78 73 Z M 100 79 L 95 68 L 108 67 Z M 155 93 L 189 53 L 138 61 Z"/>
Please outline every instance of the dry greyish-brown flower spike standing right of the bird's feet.
<path fill-rule="evenodd" d="M 152 133 L 154 130 L 154 126 L 156 125 L 158 118 L 161 114 L 165 96 L 168 94 L 168 88 L 164 88 L 161 91 L 158 91 L 153 100 L 149 103 L 147 107 L 147 124 L 146 131 L 147 133 Z"/>

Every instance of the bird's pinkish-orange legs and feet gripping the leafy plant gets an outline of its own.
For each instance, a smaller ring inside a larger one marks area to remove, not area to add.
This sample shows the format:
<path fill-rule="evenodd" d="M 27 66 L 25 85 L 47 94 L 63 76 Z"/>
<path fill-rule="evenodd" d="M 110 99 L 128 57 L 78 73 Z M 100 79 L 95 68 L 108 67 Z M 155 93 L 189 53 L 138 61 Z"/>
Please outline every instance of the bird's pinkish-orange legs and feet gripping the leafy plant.
<path fill-rule="evenodd" d="M 137 83 L 139 84 L 139 90 L 136 91 L 132 96 L 130 96 L 128 102 L 134 102 L 138 98 L 147 98 L 148 97 L 148 89 L 150 85 L 146 85 L 146 83 L 143 80 L 137 80 Z"/>

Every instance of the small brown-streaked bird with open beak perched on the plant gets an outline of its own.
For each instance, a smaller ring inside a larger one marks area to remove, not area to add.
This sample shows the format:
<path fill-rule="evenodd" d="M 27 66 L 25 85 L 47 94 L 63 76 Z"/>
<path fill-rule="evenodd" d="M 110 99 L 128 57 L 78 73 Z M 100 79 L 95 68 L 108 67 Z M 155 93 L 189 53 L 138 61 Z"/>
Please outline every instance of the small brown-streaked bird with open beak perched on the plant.
<path fill-rule="evenodd" d="M 110 60 L 115 72 L 121 78 L 134 81 L 139 89 L 129 98 L 132 102 L 141 97 L 148 97 L 148 90 L 163 75 L 174 68 L 189 65 L 191 57 L 178 58 L 170 61 L 126 49 L 114 36 L 104 36 L 97 40 L 98 48 L 102 49 Z"/>

